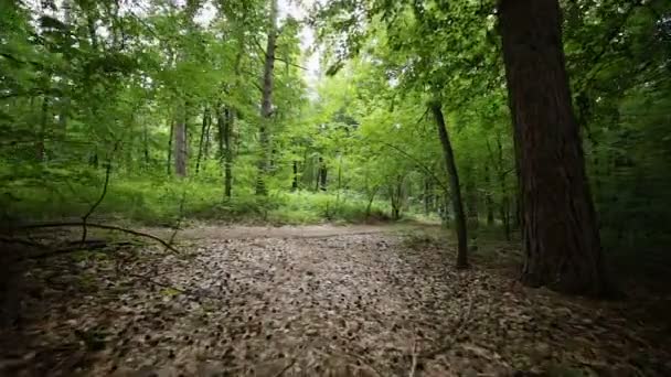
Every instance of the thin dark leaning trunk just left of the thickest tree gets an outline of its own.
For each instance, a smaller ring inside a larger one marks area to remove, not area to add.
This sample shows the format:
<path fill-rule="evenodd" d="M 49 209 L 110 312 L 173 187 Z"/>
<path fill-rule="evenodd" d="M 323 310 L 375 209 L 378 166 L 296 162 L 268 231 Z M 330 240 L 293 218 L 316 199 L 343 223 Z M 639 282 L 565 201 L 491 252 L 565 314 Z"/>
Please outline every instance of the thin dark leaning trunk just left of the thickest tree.
<path fill-rule="evenodd" d="M 457 174 L 457 164 L 455 162 L 455 153 L 449 141 L 447 127 L 445 126 L 445 117 L 440 103 L 434 101 L 430 104 L 432 111 L 436 118 L 438 136 L 443 144 L 443 153 L 445 154 L 445 163 L 449 175 L 449 190 L 451 195 L 452 207 L 455 209 L 455 228 L 457 230 L 458 250 L 457 250 L 457 268 L 468 268 L 468 238 L 466 230 L 466 216 L 464 215 L 464 203 L 461 202 L 461 187 L 459 186 L 459 175 Z M 446 206 L 447 207 L 447 206 Z"/>

